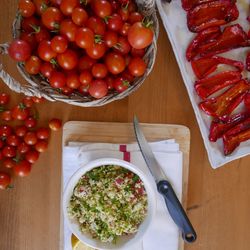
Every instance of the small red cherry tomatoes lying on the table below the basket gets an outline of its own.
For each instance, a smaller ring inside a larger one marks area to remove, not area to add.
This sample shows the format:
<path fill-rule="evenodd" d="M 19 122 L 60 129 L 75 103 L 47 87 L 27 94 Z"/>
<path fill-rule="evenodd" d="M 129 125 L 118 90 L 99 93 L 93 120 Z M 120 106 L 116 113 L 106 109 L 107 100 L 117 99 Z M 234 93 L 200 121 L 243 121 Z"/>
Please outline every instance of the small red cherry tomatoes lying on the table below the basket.
<path fill-rule="evenodd" d="M 37 127 L 35 103 L 41 98 L 24 97 L 22 102 L 13 108 L 7 108 L 9 95 L 0 93 L 0 161 L 3 167 L 11 169 L 16 176 L 29 175 L 40 153 L 46 151 L 50 129 L 61 127 L 59 119 L 52 119 L 49 128 Z M 13 121 L 13 123 L 10 123 Z M 0 171 L 0 189 L 10 186 L 11 176 Z"/>

